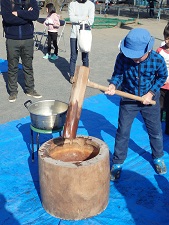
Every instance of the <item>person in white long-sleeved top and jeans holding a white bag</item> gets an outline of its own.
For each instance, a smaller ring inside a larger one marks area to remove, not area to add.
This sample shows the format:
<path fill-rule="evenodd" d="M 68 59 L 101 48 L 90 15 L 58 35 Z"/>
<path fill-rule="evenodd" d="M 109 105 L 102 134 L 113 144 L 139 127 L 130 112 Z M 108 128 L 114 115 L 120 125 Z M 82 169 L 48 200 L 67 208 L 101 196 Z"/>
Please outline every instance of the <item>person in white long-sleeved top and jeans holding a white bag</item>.
<path fill-rule="evenodd" d="M 90 0 L 76 0 L 69 4 L 68 11 L 72 22 L 70 34 L 70 82 L 72 83 L 78 56 L 77 37 L 80 22 L 85 21 L 90 26 L 94 23 L 95 5 Z M 88 52 L 82 52 L 82 63 L 83 66 L 89 67 Z"/>

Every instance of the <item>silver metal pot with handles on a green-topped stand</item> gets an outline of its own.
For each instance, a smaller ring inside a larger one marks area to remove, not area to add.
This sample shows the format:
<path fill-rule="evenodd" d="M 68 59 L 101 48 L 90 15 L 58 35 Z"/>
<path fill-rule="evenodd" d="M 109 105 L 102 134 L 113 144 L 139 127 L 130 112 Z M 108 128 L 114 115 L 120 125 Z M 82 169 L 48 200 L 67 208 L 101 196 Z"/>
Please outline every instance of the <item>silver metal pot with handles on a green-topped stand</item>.
<path fill-rule="evenodd" d="M 66 120 L 68 104 L 57 100 L 44 100 L 32 103 L 28 100 L 24 106 L 30 112 L 33 127 L 42 130 L 57 130 Z"/>

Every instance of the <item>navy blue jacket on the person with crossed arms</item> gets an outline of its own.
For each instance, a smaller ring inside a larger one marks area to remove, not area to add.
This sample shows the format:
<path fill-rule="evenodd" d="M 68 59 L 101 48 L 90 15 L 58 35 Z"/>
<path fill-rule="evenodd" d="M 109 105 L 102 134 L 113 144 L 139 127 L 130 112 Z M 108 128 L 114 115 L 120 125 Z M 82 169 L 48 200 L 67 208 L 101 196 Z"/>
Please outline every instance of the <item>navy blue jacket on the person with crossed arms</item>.
<path fill-rule="evenodd" d="M 28 2 L 28 4 L 25 4 Z M 32 7 L 33 10 L 28 11 Z M 12 14 L 17 11 L 18 16 Z M 33 38 L 34 25 L 39 17 L 36 0 L 1 0 L 1 14 L 5 37 L 13 40 Z"/>

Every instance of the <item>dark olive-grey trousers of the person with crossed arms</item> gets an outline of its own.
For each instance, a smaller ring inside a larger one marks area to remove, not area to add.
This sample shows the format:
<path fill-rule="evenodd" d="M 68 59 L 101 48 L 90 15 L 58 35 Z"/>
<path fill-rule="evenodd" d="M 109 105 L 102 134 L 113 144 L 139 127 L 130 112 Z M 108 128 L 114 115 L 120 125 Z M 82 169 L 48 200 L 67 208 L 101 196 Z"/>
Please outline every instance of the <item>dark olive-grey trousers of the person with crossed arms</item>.
<path fill-rule="evenodd" d="M 34 90 L 34 77 L 33 77 L 33 51 L 34 41 L 33 39 L 27 40 L 6 40 L 7 60 L 8 60 L 8 90 L 9 94 L 18 93 L 18 64 L 21 57 L 25 92 Z"/>

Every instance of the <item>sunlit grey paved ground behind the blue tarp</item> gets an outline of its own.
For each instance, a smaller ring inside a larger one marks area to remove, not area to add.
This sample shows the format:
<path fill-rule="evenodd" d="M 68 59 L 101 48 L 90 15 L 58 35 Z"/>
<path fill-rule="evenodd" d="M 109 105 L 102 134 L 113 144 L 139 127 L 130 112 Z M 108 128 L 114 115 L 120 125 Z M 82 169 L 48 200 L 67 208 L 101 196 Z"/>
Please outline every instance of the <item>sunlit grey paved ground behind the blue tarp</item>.
<path fill-rule="evenodd" d="M 60 12 L 62 18 L 68 17 L 67 10 Z M 122 15 L 122 12 L 121 12 Z M 99 12 L 96 11 L 96 16 Z M 117 17 L 116 14 L 107 15 L 108 17 Z M 129 15 L 130 16 L 130 15 Z M 132 15 L 134 16 L 134 15 Z M 40 19 L 45 18 L 46 15 L 41 12 Z M 120 17 L 122 18 L 122 17 Z M 127 18 L 127 17 L 126 17 Z M 2 18 L 0 17 L 0 20 Z M 0 21 L 1 22 L 1 21 Z M 93 44 L 90 53 L 90 80 L 96 83 L 107 86 L 108 79 L 111 77 L 116 55 L 118 54 L 118 43 L 129 32 L 130 29 L 136 27 L 146 28 L 155 37 L 154 50 L 160 45 L 163 40 L 163 29 L 167 24 L 167 18 L 157 19 L 140 18 L 137 23 L 128 24 L 123 27 L 113 27 L 105 29 L 93 29 Z M 68 81 L 69 71 L 69 35 L 70 25 L 65 27 L 64 37 L 66 42 L 66 52 L 59 51 L 59 59 L 56 61 L 44 60 L 42 57 L 44 53 L 42 50 L 35 50 L 34 52 L 34 77 L 35 89 L 42 94 L 43 98 L 40 100 L 59 100 L 69 102 L 71 84 Z M 43 24 L 37 22 L 36 31 L 42 32 Z M 0 58 L 6 59 L 5 38 L 3 37 L 3 29 L 0 28 Z M 63 40 L 61 40 L 59 47 L 63 49 Z M 77 65 L 81 65 L 81 56 L 79 54 Z M 16 120 L 29 115 L 28 110 L 24 106 L 24 102 L 30 99 L 24 94 L 24 83 L 22 71 L 19 71 L 18 76 L 18 98 L 14 103 L 9 103 L 8 93 L 6 88 L 7 73 L 0 75 L 1 86 L 1 104 L 0 104 L 0 124 L 11 120 Z M 85 97 L 93 96 L 100 93 L 99 90 L 87 88 Z M 39 101 L 31 99 L 32 102 Z"/>

